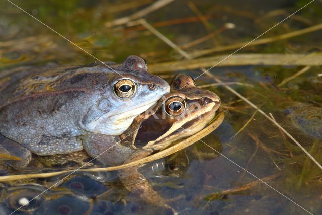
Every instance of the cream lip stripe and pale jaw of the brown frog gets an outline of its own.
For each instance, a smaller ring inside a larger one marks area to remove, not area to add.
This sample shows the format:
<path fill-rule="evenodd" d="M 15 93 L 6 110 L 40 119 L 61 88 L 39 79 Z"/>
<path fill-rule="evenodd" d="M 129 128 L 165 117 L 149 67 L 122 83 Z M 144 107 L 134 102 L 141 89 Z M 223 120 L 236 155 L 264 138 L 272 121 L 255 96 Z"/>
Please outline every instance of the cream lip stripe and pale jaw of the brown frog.
<path fill-rule="evenodd" d="M 143 149 L 148 149 L 150 148 L 151 146 L 153 146 L 154 144 L 157 144 L 160 146 L 158 147 L 161 147 L 161 148 L 164 148 L 164 145 L 169 145 L 172 141 L 175 141 L 177 140 L 178 138 L 182 138 L 182 137 L 185 137 L 185 136 L 190 136 L 190 135 L 193 135 L 195 134 L 196 132 L 198 132 L 199 130 L 201 130 L 213 117 L 214 117 L 214 114 L 216 113 L 217 109 L 214 109 L 216 106 L 215 103 L 211 103 L 209 105 L 207 105 L 207 107 L 205 109 L 203 109 L 202 111 L 198 111 L 194 116 L 187 116 L 184 120 L 182 121 L 177 121 L 175 123 L 173 123 L 171 129 L 169 129 L 167 132 L 165 132 L 163 135 L 159 136 L 156 140 L 152 140 L 152 141 L 149 141 L 147 143 L 147 145 L 145 145 L 144 147 L 142 147 Z M 218 106 L 219 107 L 219 106 Z M 211 114 L 213 113 L 213 115 Z M 187 122 L 190 122 L 190 121 L 193 121 L 195 119 L 197 119 L 198 116 L 202 115 L 202 114 L 209 114 L 208 118 L 206 119 L 202 119 L 202 120 L 197 120 L 197 124 L 194 123 L 191 128 L 186 128 L 184 129 L 185 131 L 185 134 L 179 134 L 179 135 L 172 135 L 172 133 L 175 131 L 175 130 L 178 130 L 181 128 L 181 126 L 183 126 L 185 123 Z M 171 137 L 171 138 L 168 138 L 168 137 Z M 161 141 L 161 142 L 159 142 Z M 164 142 L 163 142 L 164 141 Z"/>

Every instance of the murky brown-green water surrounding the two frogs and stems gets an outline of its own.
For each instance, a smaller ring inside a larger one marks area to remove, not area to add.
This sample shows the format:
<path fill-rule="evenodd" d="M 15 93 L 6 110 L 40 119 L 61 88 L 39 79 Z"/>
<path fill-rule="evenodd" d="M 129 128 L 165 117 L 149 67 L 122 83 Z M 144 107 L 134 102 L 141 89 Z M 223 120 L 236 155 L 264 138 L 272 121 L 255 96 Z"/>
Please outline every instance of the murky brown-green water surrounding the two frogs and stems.
<path fill-rule="evenodd" d="M 133 14 L 152 2 L 14 1 L 100 60 L 120 62 L 131 54 L 142 56 L 149 64 L 181 60 L 183 57 L 180 54 L 141 25 L 106 26 L 107 22 Z M 144 18 L 183 50 L 196 53 L 203 49 L 250 41 L 308 2 L 249 0 L 241 4 L 235 0 L 176 0 Z M 0 11 L 0 74 L 20 65 L 79 65 L 95 61 L 10 2 L 1 2 Z M 202 21 L 198 18 L 200 14 L 204 15 Z M 259 39 L 304 29 L 321 21 L 322 3 L 315 0 Z M 235 28 L 224 28 L 227 23 L 234 24 Z M 204 38 L 207 35 L 210 35 L 209 38 Z M 320 52 L 321 45 L 321 31 L 314 31 L 287 40 L 245 47 L 238 53 L 309 54 Z M 208 56 L 228 56 L 236 49 Z M 311 66 L 302 75 L 280 84 L 303 67 L 255 64 L 216 66 L 210 71 L 223 82 L 238 82 L 230 85 L 231 88 L 265 113 L 272 113 L 276 121 L 321 163 L 320 66 Z M 202 71 L 183 70 L 162 75 L 169 77 L 169 81 L 177 73 L 197 77 Z M 210 83 L 215 81 L 206 75 L 196 80 L 197 85 Z M 226 109 L 226 118 L 203 141 L 222 155 L 199 141 L 175 157 L 145 165 L 140 172 L 148 178 L 154 189 L 165 199 L 173 199 L 169 204 L 182 214 L 303 214 L 307 213 L 305 210 L 321 214 L 322 170 L 258 112 L 234 137 L 255 109 L 223 86 L 207 89 L 220 96 Z M 2 175 L 15 173 L 5 166 L 1 170 Z M 0 214 L 9 214 L 20 207 L 21 199 L 32 199 L 63 177 L 2 183 Z M 118 182 L 114 172 L 77 173 L 15 214 L 169 212 L 146 205 L 137 196 L 127 194 Z"/>

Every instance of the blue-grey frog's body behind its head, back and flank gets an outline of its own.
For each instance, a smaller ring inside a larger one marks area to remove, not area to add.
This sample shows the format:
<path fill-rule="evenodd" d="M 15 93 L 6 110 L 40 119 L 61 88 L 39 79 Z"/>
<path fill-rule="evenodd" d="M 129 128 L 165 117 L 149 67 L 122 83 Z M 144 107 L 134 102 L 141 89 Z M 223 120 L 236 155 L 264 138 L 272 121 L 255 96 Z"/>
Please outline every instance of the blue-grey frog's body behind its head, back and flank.
<path fill-rule="evenodd" d="M 110 75 L 95 65 L 7 72 L 0 79 L 0 133 L 39 155 L 82 150 L 74 138 L 83 133 L 77 122 Z"/>

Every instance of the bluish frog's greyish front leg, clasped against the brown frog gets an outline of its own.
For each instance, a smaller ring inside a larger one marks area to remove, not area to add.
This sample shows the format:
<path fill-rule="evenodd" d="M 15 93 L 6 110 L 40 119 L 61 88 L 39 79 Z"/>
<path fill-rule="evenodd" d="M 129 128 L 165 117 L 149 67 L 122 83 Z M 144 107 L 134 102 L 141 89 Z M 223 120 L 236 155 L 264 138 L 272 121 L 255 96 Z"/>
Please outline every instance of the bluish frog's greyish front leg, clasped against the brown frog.
<path fill-rule="evenodd" d="M 134 152 L 133 149 L 120 144 L 119 136 L 90 133 L 79 137 L 84 150 L 102 164 L 114 166 L 124 161 Z"/>

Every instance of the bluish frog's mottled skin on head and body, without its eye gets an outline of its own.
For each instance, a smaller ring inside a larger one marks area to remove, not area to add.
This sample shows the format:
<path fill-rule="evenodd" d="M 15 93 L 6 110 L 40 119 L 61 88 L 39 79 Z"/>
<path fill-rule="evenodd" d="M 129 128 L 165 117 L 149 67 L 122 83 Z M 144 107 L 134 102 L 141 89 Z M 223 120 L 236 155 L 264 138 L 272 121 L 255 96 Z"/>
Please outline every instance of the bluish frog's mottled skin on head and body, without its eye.
<path fill-rule="evenodd" d="M 140 57 L 107 64 L 25 68 L 0 77 L 0 133 L 37 155 L 76 152 L 83 149 L 78 137 L 119 135 L 169 92 Z M 135 84 L 131 97 L 116 95 L 120 80 Z"/>

